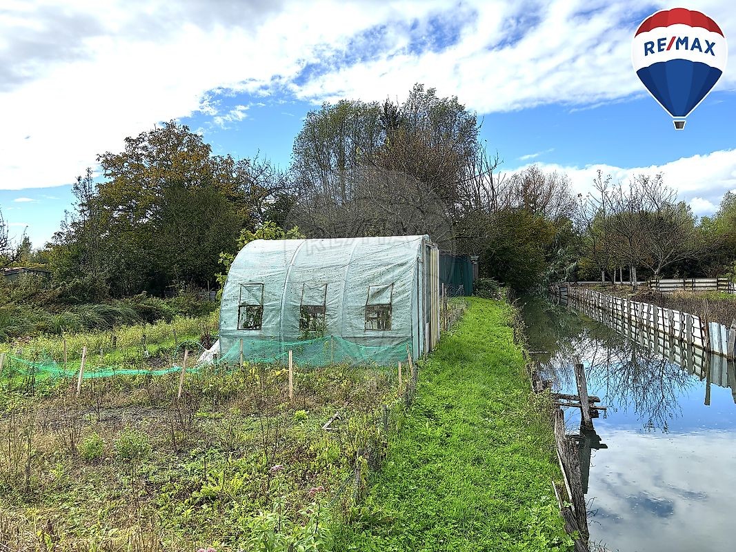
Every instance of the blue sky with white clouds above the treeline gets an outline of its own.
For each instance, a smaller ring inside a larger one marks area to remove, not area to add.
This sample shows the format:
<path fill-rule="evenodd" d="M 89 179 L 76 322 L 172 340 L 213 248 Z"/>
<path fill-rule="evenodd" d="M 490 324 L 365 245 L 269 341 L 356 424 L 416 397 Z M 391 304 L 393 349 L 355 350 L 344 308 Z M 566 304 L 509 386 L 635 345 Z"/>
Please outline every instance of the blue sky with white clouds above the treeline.
<path fill-rule="evenodd" d="M 673 7 L 736 36 L 729 0 L 3 0 L 0 211 L 40 247 L 127 136 L 176 119 L 286 168 L 322 102 L 401 102 L 421 82 L 478 114 L 502 171 L 537 163 L 581 192 L 598 169 L 662 171 L 707 216 L 736 190 L 736 69 L 674 130 L 631 65 L 639 24 Z"/>

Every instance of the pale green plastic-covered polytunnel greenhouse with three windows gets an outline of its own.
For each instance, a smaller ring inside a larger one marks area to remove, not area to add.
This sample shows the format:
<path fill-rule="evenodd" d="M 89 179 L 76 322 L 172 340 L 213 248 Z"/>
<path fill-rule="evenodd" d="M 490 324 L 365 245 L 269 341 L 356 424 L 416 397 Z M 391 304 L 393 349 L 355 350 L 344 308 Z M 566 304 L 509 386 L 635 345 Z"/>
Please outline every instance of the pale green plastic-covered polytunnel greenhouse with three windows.
<path fill-rule="evenodd" d="M 320 364 L 329 348 L 329 361 L 386 364 L 408 345 L 417 358 L 439 339 L 439 304 L 429 236 L 255 240 L 222 291 L 220 354 Z"/>

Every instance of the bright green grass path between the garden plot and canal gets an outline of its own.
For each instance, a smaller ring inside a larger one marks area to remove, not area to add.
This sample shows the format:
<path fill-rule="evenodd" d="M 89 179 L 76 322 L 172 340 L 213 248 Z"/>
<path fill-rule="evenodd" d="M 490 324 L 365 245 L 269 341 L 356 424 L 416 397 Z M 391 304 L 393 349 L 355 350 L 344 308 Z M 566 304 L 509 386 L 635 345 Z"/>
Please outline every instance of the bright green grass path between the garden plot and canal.
<path fill-rule="evenodd" d="M 553 436 L 530 404 L 510 317 L 473 299 L 442 337 L 336 551 L 572 549 L 551 497 Z"/>

